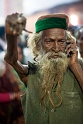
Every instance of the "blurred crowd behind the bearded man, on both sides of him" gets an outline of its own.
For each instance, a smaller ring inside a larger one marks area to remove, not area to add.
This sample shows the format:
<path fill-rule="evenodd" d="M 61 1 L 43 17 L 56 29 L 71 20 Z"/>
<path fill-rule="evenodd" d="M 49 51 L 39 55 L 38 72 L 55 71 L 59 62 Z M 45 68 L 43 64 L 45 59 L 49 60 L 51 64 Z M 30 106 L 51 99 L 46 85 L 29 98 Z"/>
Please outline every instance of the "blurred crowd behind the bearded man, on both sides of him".
<path fill-rule="evenodd" d="M 83 26 L 70 26 L 69 31 L 77 39 L 79 57 L 83 57 Z M 27 34 L 22 34 L 17 39 L 18 60 L 22 64 L 33 62 L 33 55 L 27 46 L 27 38 Z M 24 124 L 20 95 L 26 92 L 26 86 L 19 79 L 16 71 L 4 61 L 6 49 L 5 28 L 0 26 L 0 124 Z"/>

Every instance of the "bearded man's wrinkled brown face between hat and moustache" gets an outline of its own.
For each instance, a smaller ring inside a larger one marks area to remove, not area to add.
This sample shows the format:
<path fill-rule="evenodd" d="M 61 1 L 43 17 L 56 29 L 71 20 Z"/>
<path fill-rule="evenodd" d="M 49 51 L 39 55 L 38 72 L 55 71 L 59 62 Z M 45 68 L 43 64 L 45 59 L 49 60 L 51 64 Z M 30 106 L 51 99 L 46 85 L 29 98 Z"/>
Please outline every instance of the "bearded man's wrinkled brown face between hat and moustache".
<path fill-rule="evenodd" d="M 54 51 L 55 53 L 64 52 L 66 47 L 65 30 L 53 28 L 43 31 L 42 47 L 45 53 Z M 56 58 L 57 56 L 55 56 Z"/>

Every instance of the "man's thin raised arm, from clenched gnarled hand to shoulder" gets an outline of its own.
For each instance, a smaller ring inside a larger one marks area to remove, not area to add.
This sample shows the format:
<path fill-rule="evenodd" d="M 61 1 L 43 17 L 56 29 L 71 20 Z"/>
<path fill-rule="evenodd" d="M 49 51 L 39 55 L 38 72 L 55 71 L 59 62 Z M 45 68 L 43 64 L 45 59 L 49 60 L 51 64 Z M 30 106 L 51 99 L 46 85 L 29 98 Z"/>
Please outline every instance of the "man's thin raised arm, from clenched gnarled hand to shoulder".
<path fill-rule="evenodd" d="M 5 21 L 7 52 L 4 60 L 12 65 L 18 73 L 20 79 L 26 84 L 28 75 L 28 65 L 24 66 L 18 61 L 17 37 L 25 29 L 26 18 L 22 14 L 12 14 L 7 16 Z"/>

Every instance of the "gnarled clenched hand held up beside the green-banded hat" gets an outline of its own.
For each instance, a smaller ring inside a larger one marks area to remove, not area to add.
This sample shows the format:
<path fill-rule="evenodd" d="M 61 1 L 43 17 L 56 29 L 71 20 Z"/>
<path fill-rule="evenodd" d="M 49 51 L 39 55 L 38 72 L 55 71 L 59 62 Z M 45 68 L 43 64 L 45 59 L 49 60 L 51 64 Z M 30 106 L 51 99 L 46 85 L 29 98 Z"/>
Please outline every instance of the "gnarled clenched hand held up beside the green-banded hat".
<path fill-rule="evenodd" d="M 26 18 L 19 13 L 8 15 L 5 20 L 6 34 L 18 36 L 25 29 Z"/>

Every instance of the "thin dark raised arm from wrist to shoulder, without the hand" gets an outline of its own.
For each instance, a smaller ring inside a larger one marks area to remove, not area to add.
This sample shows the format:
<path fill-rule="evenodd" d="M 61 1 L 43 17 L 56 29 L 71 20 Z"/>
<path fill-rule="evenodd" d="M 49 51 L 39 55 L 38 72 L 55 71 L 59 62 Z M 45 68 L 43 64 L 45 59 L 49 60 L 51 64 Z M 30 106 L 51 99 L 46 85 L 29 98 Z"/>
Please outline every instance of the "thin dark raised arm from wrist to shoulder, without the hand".
<path fill-rule="evenodd" d="M 27 80 L 28 68 L 18 61 L 17 36 L 6 34 L 7 53 L 4 60 L 9 63 L 18 73 L 20 79 L 25 83 Z"/>

